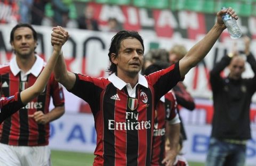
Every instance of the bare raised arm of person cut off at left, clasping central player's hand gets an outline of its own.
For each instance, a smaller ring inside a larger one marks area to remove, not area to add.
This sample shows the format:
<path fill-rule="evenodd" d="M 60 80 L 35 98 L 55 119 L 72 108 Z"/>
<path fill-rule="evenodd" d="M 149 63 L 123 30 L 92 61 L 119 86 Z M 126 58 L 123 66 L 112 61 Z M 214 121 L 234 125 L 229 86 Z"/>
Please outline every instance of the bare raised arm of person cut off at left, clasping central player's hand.
<path fill-rule="evenodd" d="M 63 34 L 62 38 L 63 38 Z M 60 40 L 60 42 L 63 41 L 63 39 Z M 47 81 L 49 80 L 52 70 L 55 66 L 55 63 L 57 62 L 58 56 L 60 54 L 61 50 L 61 43 L 55 44 L 53 46 L 53 53 L 50 57 L 49 61 L 47 62 L 45 68 L 39 75 L 39 77 L 36 79 L 34 85 L 31 87 L 23 90 L 20 93 L 21 102 L 23 104 L 26 104 L 31 101 L 31 99 L 37 97 L 39 94 L 41 94 L 47 84 Z"/>

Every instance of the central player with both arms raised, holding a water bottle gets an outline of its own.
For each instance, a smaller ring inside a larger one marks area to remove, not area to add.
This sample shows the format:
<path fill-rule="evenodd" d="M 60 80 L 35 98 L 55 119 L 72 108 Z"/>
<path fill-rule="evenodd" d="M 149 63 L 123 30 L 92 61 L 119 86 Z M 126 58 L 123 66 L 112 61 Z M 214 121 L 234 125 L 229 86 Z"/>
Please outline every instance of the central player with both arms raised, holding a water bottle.
<path fill-rule="evenodd" d="M 183 59 L 149 76 L 139 74 L 144 45 L 134 31 L 119 31 L 112 38 L 107 79 L 69 72 L 63 55 L 59 56 L 55 79 L 89 103 L 94 116 L 97 146 L 93 165 L 150 165 L 156 104 L 210 51 L 226 29 L 225 13 L 238 19 L 231 8 L 219 11 L 210 32 Z M 53 29 L 52 44 L 62 31 Z M 167 161 L 165 157 L 162 162 Z"/>

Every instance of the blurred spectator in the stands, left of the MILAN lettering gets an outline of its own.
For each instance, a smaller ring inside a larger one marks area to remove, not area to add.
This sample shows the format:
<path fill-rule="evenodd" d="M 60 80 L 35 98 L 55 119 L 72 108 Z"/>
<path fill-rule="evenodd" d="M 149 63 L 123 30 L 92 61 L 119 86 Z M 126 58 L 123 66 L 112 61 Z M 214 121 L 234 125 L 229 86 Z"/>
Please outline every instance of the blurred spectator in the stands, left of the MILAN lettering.
<path fill-rule="evenodd" d="M 99 30 L 97 20 L 93 19 L 94 9 L 93 6 L 87 5 L 84 8 L 84 15 L 78 18 L 78 28 L 88 30 Z"/>

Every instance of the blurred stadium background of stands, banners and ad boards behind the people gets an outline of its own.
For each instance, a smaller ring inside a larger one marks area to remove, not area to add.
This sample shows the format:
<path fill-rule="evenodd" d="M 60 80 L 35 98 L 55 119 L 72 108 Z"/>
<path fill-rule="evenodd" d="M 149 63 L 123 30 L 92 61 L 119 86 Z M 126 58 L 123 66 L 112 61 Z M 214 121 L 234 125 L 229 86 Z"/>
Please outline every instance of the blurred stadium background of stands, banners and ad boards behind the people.
<path fill-rule="evenodd" d="M 49 59 L 54 26 L 65 27 L 70 39 L 62 48 L 68 70 L 107 77 L 108 47 L 117 31 L 136 30 L 144 39 L 145 53 L 153 48 L 167 51 L 174 44 L 191 48 L 215 23 L 222 6 L 233 7 L 243 34 L 252 38 L 256 54 L 256 0 L 53 0 L 0 1 L 0 64 L 12 56 L 10 31 L 18 22 L 34 25 L 38 32 L 36 52 Z M 186 75 L 184 84 L 195 99 L 196 109 L 180 108 L 188 139 L 183 154 L 190 165 L 204 165 L 213 115 L 209 70 L 242 39 L 233 40 L 225 30 L 206 58 Z M 248 64 L 243 77 L 252 77 Z M 53 165 L 92 165 L 96 143 L 90 106 L 65 90 L 66 113 L 51 123 Z M 256 96 L 251 106 L 252 139 L 247 145 L 247 165 L 256 163 Z"/>

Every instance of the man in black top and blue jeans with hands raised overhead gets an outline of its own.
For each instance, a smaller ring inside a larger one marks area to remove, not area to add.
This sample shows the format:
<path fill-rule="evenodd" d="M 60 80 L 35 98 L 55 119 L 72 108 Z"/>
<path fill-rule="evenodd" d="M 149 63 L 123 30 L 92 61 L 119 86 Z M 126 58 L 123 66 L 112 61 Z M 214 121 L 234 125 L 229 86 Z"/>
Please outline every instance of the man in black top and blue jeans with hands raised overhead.
<path fill-rule="evenodd" d="M 210 72 L 214 114 L 207 166 L 245 164 L 246 143 L 251 139 L 250 105 L 256 90 L 256 61 L 250 52 L 250 38 L 244 37 L 244 43 L 254 77 L 242 78 L 245 60 L 237 52 L 223 56 Z M 229 74 L 222 78 L 226 67 Z"/>

